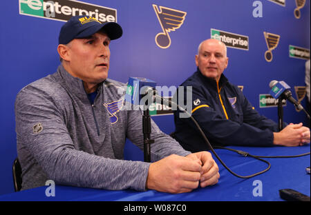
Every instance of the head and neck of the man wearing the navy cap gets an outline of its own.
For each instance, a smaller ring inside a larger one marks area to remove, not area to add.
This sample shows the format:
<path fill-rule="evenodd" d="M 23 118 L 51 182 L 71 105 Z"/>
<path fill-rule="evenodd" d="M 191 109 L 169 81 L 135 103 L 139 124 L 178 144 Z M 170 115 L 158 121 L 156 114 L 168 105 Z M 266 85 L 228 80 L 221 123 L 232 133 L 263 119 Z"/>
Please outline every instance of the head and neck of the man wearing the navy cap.
<path fill-rule="evenodd" d="M 62 26 L 57 47 L 62 65 L 69 74 L 82 79 L 88 94 L 106 80 L 110 41 L 121 36 L 119 24 L 100 23 L 93 17 L 72 17 Z"/>

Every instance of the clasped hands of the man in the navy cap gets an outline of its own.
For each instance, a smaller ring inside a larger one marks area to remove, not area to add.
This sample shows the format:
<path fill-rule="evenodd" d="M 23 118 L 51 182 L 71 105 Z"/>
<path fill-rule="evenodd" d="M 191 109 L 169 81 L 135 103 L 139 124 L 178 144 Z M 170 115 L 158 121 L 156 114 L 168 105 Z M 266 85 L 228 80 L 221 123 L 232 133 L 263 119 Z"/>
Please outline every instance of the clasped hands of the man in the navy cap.
<path fill-rule="evenodd" d="M 172 154 L 151 163 L 147 188 L 173 194 L 191 192 L 198 185 L 206 187 L 218 183 L 218 170 L 218 165 L 209 152 L 187 156 Z"/>

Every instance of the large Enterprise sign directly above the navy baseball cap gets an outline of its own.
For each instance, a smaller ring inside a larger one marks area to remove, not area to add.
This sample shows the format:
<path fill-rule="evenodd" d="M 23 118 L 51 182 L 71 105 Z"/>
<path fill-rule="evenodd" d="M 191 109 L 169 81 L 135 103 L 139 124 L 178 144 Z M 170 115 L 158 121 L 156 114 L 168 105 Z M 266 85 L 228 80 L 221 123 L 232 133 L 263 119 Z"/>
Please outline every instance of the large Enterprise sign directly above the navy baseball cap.
<path fill-rule="evenodd" d="M 102 23 L 117 21 L 117 10 L 113 8 L 73 0 L 19 0 L 19 14 L 58 21 L 78 15 L 94 17 Z"/>

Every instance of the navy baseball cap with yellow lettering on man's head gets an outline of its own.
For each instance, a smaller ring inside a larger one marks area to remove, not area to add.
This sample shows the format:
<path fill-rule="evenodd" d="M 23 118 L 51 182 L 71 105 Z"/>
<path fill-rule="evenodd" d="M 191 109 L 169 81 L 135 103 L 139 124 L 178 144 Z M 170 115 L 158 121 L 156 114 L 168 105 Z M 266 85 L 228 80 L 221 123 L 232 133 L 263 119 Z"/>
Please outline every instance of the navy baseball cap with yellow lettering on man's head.
<path fill-rule="evenodd" d="M 90 37 L 100 30 L 104 31 L 111 40 L 122 36 L 122 28 L 118 23 L 101 23 L 93 17 L 75 16 L 71 17 L 62 26 L 59 32 L 58 43 L 67 44 L 73 39 Z"/>

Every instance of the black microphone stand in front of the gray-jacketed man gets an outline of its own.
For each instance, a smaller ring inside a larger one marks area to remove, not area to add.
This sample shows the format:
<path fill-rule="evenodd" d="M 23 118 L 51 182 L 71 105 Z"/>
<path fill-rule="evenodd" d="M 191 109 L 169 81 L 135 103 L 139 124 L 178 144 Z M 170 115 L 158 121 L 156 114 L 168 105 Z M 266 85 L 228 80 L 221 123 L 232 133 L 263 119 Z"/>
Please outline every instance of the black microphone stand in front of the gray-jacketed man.
<path fill-rule="evenodd" d="M 142 115 L 142 133 L 144 134 L 144 162 L 151 162 L 151 116 L 149 114 L 149 107 L 145 104 L 144 114 Z"/>

